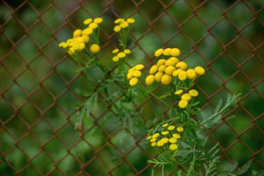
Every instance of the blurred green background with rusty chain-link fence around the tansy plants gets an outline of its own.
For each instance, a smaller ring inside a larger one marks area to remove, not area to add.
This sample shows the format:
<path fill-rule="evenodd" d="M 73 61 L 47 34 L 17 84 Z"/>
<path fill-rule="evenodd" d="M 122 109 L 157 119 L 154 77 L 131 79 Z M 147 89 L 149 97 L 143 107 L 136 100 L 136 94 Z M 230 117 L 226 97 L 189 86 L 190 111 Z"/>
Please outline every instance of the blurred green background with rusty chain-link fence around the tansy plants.
<path fill-rule="evenodd" d="M 83 29 L 84 19 L 98 16 L 104 18 L 100 42 L 109 67 L 116 65 L 110 51 L 118 45 L 113 21 L 133 17 L 128 65 L 156 61 L 154 51 L 160 47 L 179 47 L 179 58 L 190 67 L 206 67 L 196 86 L 204 111 L 210 112 L 228 93 L 242 93 L 230 113 L 236 118 L 215 127 L 211 137 L 223 147 L 223 166 L 226 158 L 239 166 L 252 159 L 251 169 L 260 170 L 263 6 L 261 0 L 1 1 L 0 175 L 151 174 L 147 160 L 155 151 L 145 142 L 147 129 L 134 134 L 123 129 L 101 99 L 92 107 L 84 131 L 74 129 L 75 104 L 81 101 L 76 88 L 86 83 L 58 43 L 74 29 Z M 161 86 L 155 93 L 165 90 Z M 140 117 L 167 118 L 165 109 L 147 98 L 140 93 L 135 99 L 133 109 Z"/>

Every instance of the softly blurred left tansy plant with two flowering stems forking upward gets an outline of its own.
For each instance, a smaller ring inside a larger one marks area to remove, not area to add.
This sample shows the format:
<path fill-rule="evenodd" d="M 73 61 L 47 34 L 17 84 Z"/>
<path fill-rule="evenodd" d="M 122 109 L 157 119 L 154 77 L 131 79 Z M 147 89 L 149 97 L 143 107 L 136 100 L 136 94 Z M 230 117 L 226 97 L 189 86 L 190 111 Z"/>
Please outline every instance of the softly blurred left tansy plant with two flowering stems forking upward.
<path fill-rule="evenodd" d="M 80 128 L 83 126 L 83 119 L 88 118 L 92 107 L 97 106 L 97 97 L 101 91 L 104 92 L 105 102 L 110 104 L 110 102 L 115 101 L 115 104 L 110 107 L 115 118 L 118 118 L 122 122 L 123 127 L 133 132 L 135 124 L 138 123 L 135 122 L 135 119 L 141 120 L 141 118 L 133 118 L 138 115 L 132 109 L 133 97 L 135 97 L 136 93 L 133 88 L 128 86 L 126 80 L 125 59 L 131 54 L 127 41 L 129 29 L 131 24 L 135 22 L 135 19 L 119 18 L 114 22 L 115 27 L 113 31 L 118 34 L 119 45 L 112 51 L 112 61 L 117 63 L 117 69 L 115 69 L 115 72 L 110 72 L 111 74 L 108 74 L 109 68 L 101 61 L 100 55 L 99 33 L 100 25 L 103 21 L 104 19 L 101 17 L 85 19 L 83 21 L 85 25 L 84 29 L 76 29 L 73 32 L 72 38 L 59 44 L 59 47 L 63 47 L 67 51 L 67 54 L 72 56 L 74 61 L 78 63 L 79 68 L 77 71 L 83 72 L 87 78 L 87 89 L 77 90 L 81 96 L 85 97 L 85 101 L 77 106 L 79 113 L 76 117 L 76 127 Z M 103 72 L 104 77 L 93 74 L 94 72 L 98 72 L 98 68 Z M 117 83 L 121 88 L 113 92 L 110 88 L 113 85 L 112 83 Z M 94 84 L 97 86 L 94 86 Z M 111 93 L 109 93 L 110 90 Z M 122 97 L 119 97 L 120 95 Z"/>

